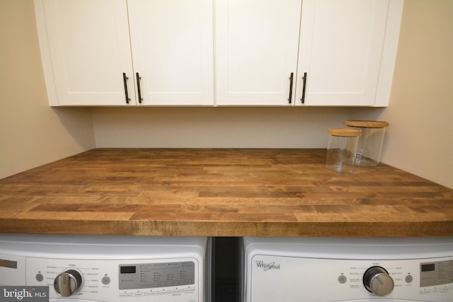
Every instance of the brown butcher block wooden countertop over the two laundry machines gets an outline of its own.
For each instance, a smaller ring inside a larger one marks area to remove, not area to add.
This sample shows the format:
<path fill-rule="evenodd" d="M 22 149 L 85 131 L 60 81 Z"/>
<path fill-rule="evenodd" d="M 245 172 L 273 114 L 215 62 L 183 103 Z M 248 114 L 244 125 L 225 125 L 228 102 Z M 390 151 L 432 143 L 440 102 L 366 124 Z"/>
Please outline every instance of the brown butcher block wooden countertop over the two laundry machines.
<path fill-rule="evenodd" d="M 325 149 L 93 149 L 0 180 L 0 232 L 453 236 L 453 190 Z"/>

